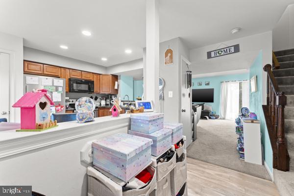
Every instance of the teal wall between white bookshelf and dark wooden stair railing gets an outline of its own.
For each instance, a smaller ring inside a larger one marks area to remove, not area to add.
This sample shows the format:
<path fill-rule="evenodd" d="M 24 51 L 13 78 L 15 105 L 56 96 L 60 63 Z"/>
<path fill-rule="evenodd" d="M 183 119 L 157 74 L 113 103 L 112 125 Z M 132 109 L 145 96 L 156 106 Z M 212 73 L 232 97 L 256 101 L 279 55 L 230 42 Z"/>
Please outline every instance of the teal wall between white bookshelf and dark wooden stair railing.
<path fill-rule="evenodd" d="M 264 117 L 262 109 L 262 74 L 263 74 L 263 64 L 262 64 L 262 51 L 259 52 L 258 56 L 254 60 L 250 67 L 249 78 L 254 75 L 257 76 L 257 91 L 250 93 L 250 112 L 254 112 L 260 121 L 260 130 L 262 133 L 262 144 L 264 146 L 264 159 L 272 172 L 272 149 L 270 145 L 270 137 L 266 125 L 266 120 Z M 266 81 L 264 81 L 266 82 Z M 251 92 L 251 87 L 250 87 Z"/>

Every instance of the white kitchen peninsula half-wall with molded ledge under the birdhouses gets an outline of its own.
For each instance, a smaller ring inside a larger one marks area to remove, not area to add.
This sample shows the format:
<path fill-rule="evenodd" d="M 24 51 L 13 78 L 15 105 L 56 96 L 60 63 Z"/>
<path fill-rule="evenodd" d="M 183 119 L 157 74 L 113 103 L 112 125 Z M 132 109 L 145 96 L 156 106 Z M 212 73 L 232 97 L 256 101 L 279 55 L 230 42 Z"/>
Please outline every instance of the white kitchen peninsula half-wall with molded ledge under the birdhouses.
<path fill-rule="evenodd" d="M 1 131 L 0 184 L 33 184 L 35 191 L 48 195 L 87 195 L 87 164 L 81 162 L 80 150 L 99 138 L 127 133 L 129 126 L 130 114 L 122 114 L 58 123 L 42 132 Z"/>

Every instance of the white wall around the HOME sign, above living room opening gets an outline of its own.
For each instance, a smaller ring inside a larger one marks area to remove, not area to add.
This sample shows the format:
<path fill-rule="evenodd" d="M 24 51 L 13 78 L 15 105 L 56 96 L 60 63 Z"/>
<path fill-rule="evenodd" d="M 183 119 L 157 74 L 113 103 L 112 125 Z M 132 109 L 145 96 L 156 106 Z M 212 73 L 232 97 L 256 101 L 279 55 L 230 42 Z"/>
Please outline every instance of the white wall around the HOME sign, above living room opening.
<path fill-rule="evenodd" d="M 249 69 L 259 51 L 264 48 L 264 40 L 271 43 L 268 35 L 269 32 L 264 32 L 190 50 L 193 74 Z M 207 59 L 208 51 L 235 44 L 240 44 L 240 52 Z"/>

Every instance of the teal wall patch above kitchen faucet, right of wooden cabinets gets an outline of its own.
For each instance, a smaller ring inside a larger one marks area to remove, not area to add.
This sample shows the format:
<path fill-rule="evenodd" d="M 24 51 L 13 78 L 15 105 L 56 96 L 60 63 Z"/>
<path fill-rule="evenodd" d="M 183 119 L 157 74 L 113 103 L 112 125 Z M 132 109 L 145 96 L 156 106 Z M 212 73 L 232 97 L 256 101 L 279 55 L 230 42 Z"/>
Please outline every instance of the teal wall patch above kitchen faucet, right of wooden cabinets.
<path fill-rule="evenodd" d="M 129 100 L 134 100 L 134 82 L 133 77 L 127 75 L 121 75 L 121 98 L 125 95 L 129 96 Z"/>

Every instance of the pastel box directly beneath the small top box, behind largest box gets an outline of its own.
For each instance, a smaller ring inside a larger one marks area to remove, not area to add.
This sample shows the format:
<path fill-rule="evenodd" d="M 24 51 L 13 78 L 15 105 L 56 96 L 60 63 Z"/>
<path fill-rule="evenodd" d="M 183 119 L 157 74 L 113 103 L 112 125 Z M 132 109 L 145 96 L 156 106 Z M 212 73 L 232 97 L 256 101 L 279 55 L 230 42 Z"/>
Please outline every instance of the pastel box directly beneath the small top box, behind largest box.
<path fill-rule="evenodd" d="M 129 131 L 131 135 L 137 135 L 144 138 L 152 139 L 153 144 L 151 145 L 151 154 L 153 156 L 159 156 L 164 151 L 169 149 L 172 144 L 172 130 L 171 129 L 160 129 L 151 134 L 140 133 L 137 131 Z"/>

